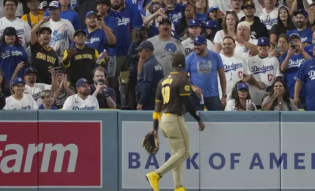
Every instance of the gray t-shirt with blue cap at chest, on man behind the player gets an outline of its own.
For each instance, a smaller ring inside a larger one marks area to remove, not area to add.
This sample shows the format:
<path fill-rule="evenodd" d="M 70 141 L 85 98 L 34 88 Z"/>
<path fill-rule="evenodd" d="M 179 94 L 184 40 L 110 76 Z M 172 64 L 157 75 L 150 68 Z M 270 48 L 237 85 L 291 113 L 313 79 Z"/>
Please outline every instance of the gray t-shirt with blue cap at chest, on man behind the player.
<path fill-rule="evenodd" d="M 176 38 L 171 37 L 169 40 L 162 40 L 157 36 L 148 39 L 154 46 L 154 56 L 162 65 L 164 76 L 168 76 L 173 71 L 172 57 L 175 52 L 185 55 L 185 49 Z"/>

